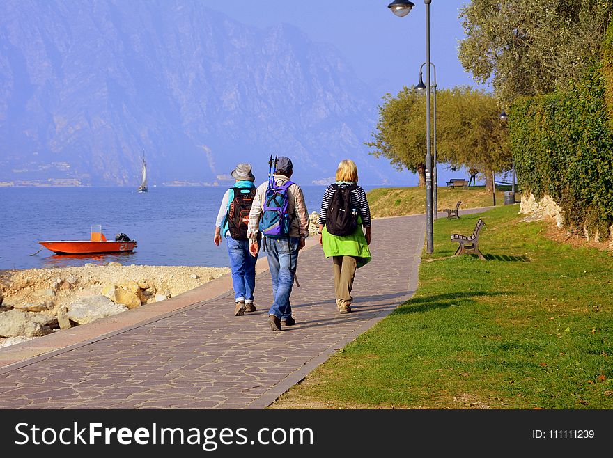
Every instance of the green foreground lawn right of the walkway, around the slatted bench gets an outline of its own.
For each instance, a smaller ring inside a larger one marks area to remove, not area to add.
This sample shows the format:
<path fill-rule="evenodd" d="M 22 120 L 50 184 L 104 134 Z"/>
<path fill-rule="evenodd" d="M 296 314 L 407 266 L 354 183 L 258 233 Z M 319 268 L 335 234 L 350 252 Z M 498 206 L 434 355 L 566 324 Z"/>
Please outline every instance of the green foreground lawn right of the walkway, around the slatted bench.
<path fill-rule="evenodd" d="M 435 221 L 414 297 L 272 408 L 613 409 L 613 258 L 517 212 Z M 479 217 L 488 260 L 445 258 Z"/>

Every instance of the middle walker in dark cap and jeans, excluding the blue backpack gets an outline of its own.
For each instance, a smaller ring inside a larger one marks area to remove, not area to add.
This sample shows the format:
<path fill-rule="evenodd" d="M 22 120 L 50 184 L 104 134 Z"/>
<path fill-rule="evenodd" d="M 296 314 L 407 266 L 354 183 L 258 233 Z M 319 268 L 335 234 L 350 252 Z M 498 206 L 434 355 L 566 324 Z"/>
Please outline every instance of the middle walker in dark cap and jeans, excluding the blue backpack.
<path fill-rule="evenodd" d="M 272 160 L 272 158 L 271 158 Z M 293 173 L 291 159 L 285 156 L 277 158 L 276 168 L 272 182 L 282 187 L 290 182 Z M 272 331 L 281 331 L 281 326 L 292 326 L 296 320 L 292 316 L 290 294 L 296 274 L 298 251 L 304 248 L 305 239 L 309 235 L 309 212 L 304 203 L 304 195 L 300 186 L 291 182 L 287 187 L 290 226 L 286 236 L 269 237 L 265 235 L 262 242 L 262 251 L 266 252 L 270 277 L 272 279 L 272 306 L 268 310 L 268 324 Z M 261 236 L 259 223 L 263 216 L 266 201 L 268 182 L 263 182 L 256 191 L 254 204 L 249 213 L 249 251 L 257 256 L 259 251 L 259 238 Z"/>

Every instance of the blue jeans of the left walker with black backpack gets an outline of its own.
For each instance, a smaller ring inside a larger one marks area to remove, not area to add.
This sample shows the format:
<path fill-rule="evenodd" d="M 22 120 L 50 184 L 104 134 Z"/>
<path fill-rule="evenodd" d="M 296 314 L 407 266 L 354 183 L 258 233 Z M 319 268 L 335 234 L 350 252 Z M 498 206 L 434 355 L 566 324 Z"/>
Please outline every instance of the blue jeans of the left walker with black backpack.
<path fill-rule="evenodd" d="M 252 302 L 256 289 L 256 261 L 249 253 L 249 240 L 235 240 L 228 235 L 228 254 L 232 269 L 234 300 Z"/>

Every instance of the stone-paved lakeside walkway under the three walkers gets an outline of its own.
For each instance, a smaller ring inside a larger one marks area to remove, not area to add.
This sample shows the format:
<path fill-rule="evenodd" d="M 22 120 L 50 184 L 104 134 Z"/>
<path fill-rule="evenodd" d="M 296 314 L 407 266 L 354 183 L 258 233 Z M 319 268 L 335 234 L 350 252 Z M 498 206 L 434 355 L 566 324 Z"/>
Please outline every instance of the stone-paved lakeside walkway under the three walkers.
<path fill-rule="evenodd" d="M 258 310 L 244 317 L 233 316 L 225 278 L 162 301 L 166 308 L 151 304 L 1 349 L 0 409 L 263 409 L 412 296 L 424 231 L 424 215 L 374 221 L 373 260 L 357 271 L 348 315 L 336 312 L 332 261 L 311 237 L 291 297 L 297 324 L 280 333 L 267 324 L 264 257 Z M 53 351 L 37 356 L 45 342 Z"/>

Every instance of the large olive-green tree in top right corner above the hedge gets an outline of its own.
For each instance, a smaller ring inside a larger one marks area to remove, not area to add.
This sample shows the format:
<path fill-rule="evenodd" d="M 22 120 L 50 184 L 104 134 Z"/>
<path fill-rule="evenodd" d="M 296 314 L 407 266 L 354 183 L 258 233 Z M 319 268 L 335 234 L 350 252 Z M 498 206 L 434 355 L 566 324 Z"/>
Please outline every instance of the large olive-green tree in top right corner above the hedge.
<path fill-rule="evenodd" d="M 460 9 L 458 57 L 508 106 L 576 81 L 598 56 L 612 13 L 611 0 L 472 0 Z"/>

